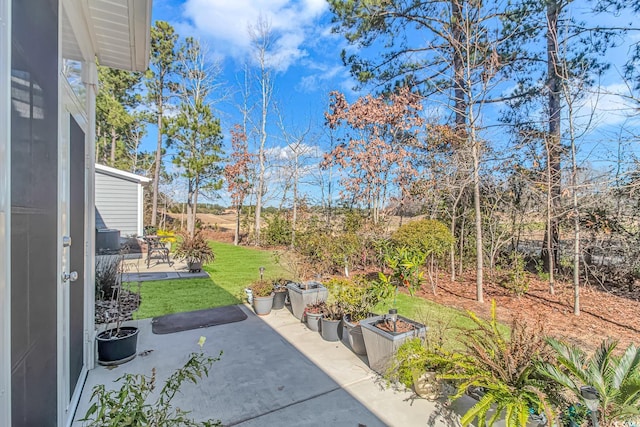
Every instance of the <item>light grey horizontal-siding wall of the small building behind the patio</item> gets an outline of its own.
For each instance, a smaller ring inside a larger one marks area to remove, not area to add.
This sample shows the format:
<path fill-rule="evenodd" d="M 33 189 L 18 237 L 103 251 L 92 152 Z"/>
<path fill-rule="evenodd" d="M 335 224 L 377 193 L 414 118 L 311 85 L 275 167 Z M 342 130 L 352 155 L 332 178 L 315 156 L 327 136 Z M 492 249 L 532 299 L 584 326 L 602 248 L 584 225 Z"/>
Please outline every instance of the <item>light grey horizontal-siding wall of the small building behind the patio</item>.
<path fill-rule="evenodd" d="M 121 237 L 141 235 L 141 185 L 96 171 L 95 188 L 96 227 L 118 229 Z"/>

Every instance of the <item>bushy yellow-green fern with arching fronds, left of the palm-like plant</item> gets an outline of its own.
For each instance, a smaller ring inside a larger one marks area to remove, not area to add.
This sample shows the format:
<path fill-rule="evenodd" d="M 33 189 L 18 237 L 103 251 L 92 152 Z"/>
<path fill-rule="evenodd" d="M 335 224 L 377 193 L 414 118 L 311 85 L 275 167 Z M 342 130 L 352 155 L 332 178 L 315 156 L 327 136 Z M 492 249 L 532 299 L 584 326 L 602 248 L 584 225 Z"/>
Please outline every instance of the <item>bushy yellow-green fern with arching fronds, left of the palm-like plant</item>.
<path fill-rule="evenodd" d="M 453 399 L 470 388 L 482 390 L 478 403 L 462 416 L 462 425 L 476 420 L 479 427 L 492 426 L 504 418 L 506 427 L 521 427 L 530 414 L 543 412 L 553 419 L 554 402 L 559 400 L 555 384 L 536 369 L 553 360 L 542 327 L 516 319 L 509 336 L 498 326 L 495 301 L 489 321 L 471 312 L 469 316 L 475 328 L 462 332 L 462 355 L 452 358 L 449 372 L 441 375 L 457 382 Z"/>

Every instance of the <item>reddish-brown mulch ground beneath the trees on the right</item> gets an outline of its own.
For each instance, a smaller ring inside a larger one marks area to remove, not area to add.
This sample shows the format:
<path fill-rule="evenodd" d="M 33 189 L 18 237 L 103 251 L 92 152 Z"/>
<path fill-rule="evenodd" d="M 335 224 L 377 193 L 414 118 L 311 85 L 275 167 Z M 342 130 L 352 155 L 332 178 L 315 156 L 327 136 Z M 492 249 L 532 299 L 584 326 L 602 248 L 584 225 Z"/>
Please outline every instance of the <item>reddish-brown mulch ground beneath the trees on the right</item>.
<path fill-rule="evenodd" d="M 545 331 L 586 349 L 596 348 L 603 339 L 620 340 L 619 349 L 640 344 L 640 290 L 635 292 L 605 291 L 593 286 L 580 288 L 579 316 L 573 314 L 573 286 L 556 283 L 555 294 L 549 293 L 547 282 L 531 278 L 528 292 L 518 298 L 502 286 L 485 283 L 484 303 L 476 302 L 475 277 L 451 282 L 441 278 L 436 295 L 427 284 L 417 292 L 437 303 L 471 310 L 488 318 L 491 300 L 496 301 L 500 321 L 509 323 L 514 315 L 528 322 L 540 320 Z"/>

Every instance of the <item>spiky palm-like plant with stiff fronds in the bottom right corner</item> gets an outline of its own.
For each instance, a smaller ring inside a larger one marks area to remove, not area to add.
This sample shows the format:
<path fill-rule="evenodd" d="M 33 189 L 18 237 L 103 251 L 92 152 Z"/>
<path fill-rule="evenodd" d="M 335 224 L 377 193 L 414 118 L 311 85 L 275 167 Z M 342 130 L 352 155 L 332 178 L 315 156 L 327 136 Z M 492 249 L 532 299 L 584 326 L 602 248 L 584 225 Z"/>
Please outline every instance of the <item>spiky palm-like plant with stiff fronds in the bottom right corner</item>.
<path fill-rule="evenodd" d="M 576 401 L 583 401 L 581 387 L 594 387 L 598 392 L 598 418 L 602 427 L 640 421 L 639 348 L 630 345 L 621 356 L 616 356 L 618 342 L 604 340 L 588 357 L 581 349 L 565 342 L 552 338 L 547 342 L 555 350 L 558 364 L 545 363 L 540 372 L 565 387 Z"/>

